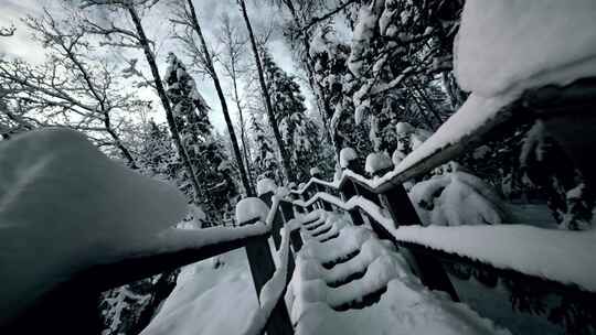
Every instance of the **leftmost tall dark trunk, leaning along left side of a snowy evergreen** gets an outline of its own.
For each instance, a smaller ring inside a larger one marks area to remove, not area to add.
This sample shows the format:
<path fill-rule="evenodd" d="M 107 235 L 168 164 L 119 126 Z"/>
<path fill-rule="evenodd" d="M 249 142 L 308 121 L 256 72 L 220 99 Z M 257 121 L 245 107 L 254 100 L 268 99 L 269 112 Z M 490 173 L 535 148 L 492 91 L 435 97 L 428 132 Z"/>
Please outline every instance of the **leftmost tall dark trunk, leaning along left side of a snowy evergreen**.
<path fill-rule="evenodd" d="M 132 19 L 132 23 L 135 24 L 135 29 L 137 30 L 137 33 L 139 34 L 139 41 L 141 43 L 145 57 L 147 58 L 147 63 L 149 63 L 149 67 L 151 68 L 151 74 L 153 75 L 153 79 L 156 82 L 158 96 L 159 96 L 159 99 L 161 100 L 161 105 L 163 106 L 163 109 L 166 110 L 166 119 L 168 120 L 168 126 L 170 127 L 170 132 L 172 133 L 172 138 L 178 149 L 178 153 L 182 158 L 182 163 L 184 164 L 184 168 L 187 169 L 187 172 L 189 173 L 191 177 L 192 187 L 194 190 L 194 201 L 196 202 L 198 198 L 203 199 L 204 198 L 203 191 L 201 190 L 201 186 L 199 185 L 199 180 L 196 179 L 196 173 L 194 172 L 194 169 L 192 168 L 189 153 L 187 152 L 187 149 L 182 144 L 182 139 L 180 138 L 180 133 L 178 132 L 178 128 L 175 126 L 175 121 L 173 118 L 172 106 L 170 105 L 170 100 L 168 99 L 168 96 L 166 95 L 166 89 L 163 88 L 161 76 L 159 75 L 156 58 L 153 56 L 153 53 L 151 52 L 151 48 L 149 47 L 149 40 L 147 39 L 147 35 L 145 34 L 145 30 L 142 29 L 140 18 L 137 11 L 135 10 L 135 8 L 132 6 L 129 6 L 127 9 L 128 9 L 128 13 L 130 14 L 130 18 Z"/>

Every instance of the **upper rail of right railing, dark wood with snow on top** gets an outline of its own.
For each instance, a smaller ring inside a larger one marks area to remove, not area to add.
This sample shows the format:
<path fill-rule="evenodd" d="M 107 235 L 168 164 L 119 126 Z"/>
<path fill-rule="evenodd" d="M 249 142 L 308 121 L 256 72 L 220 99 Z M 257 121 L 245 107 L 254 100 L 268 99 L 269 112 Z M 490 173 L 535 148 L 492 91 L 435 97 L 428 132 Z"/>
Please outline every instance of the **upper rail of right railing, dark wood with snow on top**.
<path fill-rule="evenodd" d="M 596 184 L 596 161 L 585 154 L 585 150 L 595 148 L 592 144 L 596 143 L 592 136 L 593 127 L 596 128 L 593 121 L 594 106 L 596 78 L 581 79 L 564 87 L 546 86 L 528 90 L 521 96 L 488 102 L 470 99 L 427 141 L 384 175 L 368 179 L 351 170 L 344 170 L 336 181 L 311 177 L 302 187 L 290 192 L 301 195 L 309 190 L 317 190 L 317 185 L 339 190 L 345 183 L 358 182 L 364 190 L 383 193 L 394 185 L 401 185 L 457 159 L 493 136 L 498 128 L 507 128 L 520 120 L 535 119 L 544 120 L 550 126 L 549 130 L 554 132 L 577 169 L 585 172 L 586 177 Z M 562 123 L 565 127 L 558 127 Z M 572 130 L 573 125 L 579 128 L 578 131 Z"/>

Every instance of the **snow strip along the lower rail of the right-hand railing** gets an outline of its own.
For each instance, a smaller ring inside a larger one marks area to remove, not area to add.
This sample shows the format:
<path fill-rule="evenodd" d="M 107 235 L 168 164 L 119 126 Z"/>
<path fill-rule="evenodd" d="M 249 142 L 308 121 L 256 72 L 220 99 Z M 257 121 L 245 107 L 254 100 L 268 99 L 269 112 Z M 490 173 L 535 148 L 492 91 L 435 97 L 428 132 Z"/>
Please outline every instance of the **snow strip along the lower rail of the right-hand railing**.
<path fill-rule="evenodd" d="M 344 210 L 361 208 L 398 244 L 415 244 L 498 269 L 576 284 L 583 290 L 596 292 L 596 262 L 593 260 L 596 230 L 565 231 L 526 225 L 396 227 L 392 218 L 383 215 L 380 206 L 362 196 L 352 196 L 343 202 L 319 192 L 308 202 L 292 203 L 306 207 L 319 199 Z M 570 261 L 570 255 L 573 255 L 574 261 Z"/>

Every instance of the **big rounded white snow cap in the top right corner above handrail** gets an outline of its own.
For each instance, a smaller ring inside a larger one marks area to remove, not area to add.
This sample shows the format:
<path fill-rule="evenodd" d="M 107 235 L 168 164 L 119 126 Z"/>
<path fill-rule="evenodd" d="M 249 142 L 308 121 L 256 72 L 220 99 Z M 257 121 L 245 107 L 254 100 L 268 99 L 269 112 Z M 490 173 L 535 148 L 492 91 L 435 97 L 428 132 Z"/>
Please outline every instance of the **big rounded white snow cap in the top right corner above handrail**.
<path fill-rule="evenodd" d="M 594 0 L 468 0 L 455 73 L 485 97 L 596 75 Z"/>

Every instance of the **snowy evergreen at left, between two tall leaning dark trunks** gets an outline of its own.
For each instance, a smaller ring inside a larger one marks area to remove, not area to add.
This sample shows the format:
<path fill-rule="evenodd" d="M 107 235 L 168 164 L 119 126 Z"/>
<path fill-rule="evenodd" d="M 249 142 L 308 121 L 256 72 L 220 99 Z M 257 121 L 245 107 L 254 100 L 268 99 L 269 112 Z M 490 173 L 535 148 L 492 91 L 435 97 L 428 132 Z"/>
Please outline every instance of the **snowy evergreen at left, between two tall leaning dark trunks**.
<path fill-rule="evenodd" d="M 174 54 L 169 55 L 163 78 L 182 144 L 199 177 L 201 201 L 207 217 L 216 221 L 223 217 L 225 208 L 230 208 L 230 198 L 237 193 L 235 183 L 226 176 L 225 171 L 219 170 L 227 161 L 227 155 L 222 143 L 213 136 L 213 127 L 207 117 L 209 106 L 196 90 L 194 79 Z M 184 182 L 180 186 L 187 194 L 190 193 L 190 183 Z"/>

